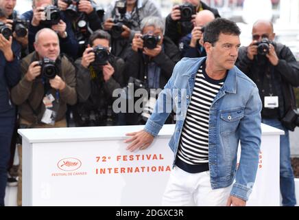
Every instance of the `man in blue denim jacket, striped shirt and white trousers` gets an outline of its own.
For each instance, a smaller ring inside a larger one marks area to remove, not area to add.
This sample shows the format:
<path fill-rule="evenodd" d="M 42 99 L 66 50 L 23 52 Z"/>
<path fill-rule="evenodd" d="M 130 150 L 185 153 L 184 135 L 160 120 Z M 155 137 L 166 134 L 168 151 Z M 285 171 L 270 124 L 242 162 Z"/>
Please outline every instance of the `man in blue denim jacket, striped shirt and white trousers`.
<path fill-rule="evenodd" d="M 239 34 L 232 21 L 209 23 L 204 32 L 207 56 L 183 58 L 145 129 L 127 134 L 129 151 L 147 148 L 169 115 L 163 108 L 174 100 L 177 122 L 169 142 L 174 169 L 163 205 L 246 205 L 259 162 L 261 100 L 256 85 L 235 67 Z"/>

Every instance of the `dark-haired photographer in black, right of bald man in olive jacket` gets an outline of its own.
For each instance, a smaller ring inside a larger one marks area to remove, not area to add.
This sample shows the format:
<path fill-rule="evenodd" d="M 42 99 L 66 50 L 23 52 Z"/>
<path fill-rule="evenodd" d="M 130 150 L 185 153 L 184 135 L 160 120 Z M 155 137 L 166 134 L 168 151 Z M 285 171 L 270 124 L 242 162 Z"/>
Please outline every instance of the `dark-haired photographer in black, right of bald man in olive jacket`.
<path fill-rule="evenodd" d="M 112 92 L 123 84 L 124 61 L 110 54 L 110 34 L 97 30 L 89 39 L 78 59 L 78 103 L 73 107 L 76 126 L 105 126 L 117 124 L 112 112 Z"/>

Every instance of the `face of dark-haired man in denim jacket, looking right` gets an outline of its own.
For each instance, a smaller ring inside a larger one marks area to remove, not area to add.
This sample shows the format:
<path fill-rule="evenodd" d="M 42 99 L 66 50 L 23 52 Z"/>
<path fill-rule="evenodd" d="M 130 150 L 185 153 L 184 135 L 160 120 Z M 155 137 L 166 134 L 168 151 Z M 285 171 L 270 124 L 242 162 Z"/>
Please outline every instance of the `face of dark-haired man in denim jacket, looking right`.
<path fill-rule="evenodd" d="M 214 46 L 204 43 L 208 58 L 218 70 L 228 70 L 234 67 L 240 47 L 239 36 L 220 34 Z"/>

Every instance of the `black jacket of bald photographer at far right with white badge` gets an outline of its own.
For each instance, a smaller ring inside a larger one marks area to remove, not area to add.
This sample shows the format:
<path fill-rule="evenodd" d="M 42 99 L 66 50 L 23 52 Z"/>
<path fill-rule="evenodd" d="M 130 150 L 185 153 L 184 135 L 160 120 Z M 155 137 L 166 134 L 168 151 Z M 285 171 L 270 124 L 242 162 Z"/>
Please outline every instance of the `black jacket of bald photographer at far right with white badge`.
<path fill-rule="evenodd" d="M 236 65 L 244 74 L 250 77 L 254 83 L 256 83 L 257 87 L 259 88 L 260 96 L 261 91 L 263 90 L 261 78 L 263 77 L 263 73 L 266 73 L 266 69 L 268 69 L 266 67 L 269 67 L 269 72 L 273 78 L 273 84 L 278 95 L 278 110 L 279 118 L 281 120 L 287 111 L 291 109 L 291 103 L 296 103 L 294 98 L 291 97 L 294 97 L 294 91 L 292 87 L 299 86 L 299 64 L 291 50 L 289 50 L 289 47 L 280 43 L 275 43 L 274 47 L 279 58 L 278 65 L 276 66 L 271 65 L 269 61 L 265 63 L 265 67 L 263 67 L 263 65 L 257 65 L 256 57 L 253 61 L 250 61 L 247 56 L 248 47 L 240 48 Z M 261 99 L 263 102 L 263 98 Z"/>

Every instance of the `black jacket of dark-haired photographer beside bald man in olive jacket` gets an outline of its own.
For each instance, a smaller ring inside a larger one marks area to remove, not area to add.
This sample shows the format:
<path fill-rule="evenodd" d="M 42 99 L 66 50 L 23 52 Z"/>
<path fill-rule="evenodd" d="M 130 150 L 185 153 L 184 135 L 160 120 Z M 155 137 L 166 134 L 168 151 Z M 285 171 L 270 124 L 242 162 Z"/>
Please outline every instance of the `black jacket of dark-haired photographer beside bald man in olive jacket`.
<path fill-rule="evenodd" d="M 109 63 L 115 69 L 112 77 L 105 82 L 101 70 L 95 70 L 95 77 L 92 77 L 93 67 L 86 69 L 81 65 L 82 58 L 75 61 L 77 67 L 77 100 L 73 107 L 73 116 L 77 126 L 102 126 L 106 125 L 108 106 L 112 105 L 114 98 L 112 93 L 115 89 L 123 86 L 124 61 L 121 58 L 111 56 Z M 111 112 L 112 113 L 112 112 Z M 93 115 L 97 120 L 82 120 Z M 84 119 L 84 118 L 83 118 Z M 117 123 L 116 115 L 113 115 L 114 122 Z"/>

